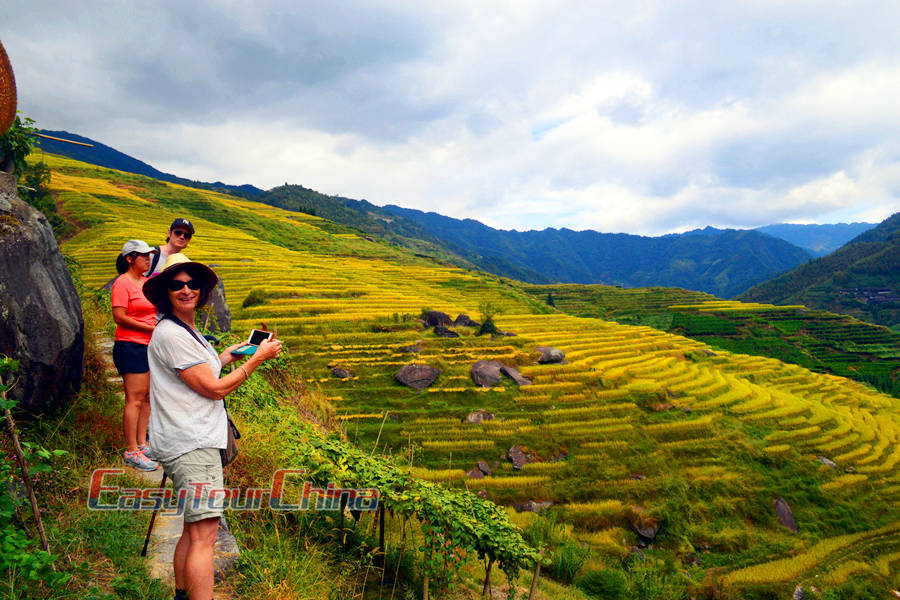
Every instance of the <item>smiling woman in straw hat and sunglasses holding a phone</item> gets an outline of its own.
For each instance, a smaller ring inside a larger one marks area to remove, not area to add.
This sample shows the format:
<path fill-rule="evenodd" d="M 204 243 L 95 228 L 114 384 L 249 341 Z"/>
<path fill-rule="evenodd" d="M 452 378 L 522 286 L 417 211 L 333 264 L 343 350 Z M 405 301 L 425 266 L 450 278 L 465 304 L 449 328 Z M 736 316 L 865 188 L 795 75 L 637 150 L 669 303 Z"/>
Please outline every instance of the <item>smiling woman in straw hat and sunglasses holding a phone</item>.
<path fill-rule="evenodd" d="M 231 351 L 240 344 L 216 354 L 194 327 L 197 310 L 217 282 L 212 269 L 178 253 L 144 283 L 147 299 L 163 314 L 148 351 L 150 448 L 172 478 L 176 494 L 187 493 L 174 570 L 176 598 L 191 600 L 212 598 L 213 550 L 223 494 L 210 491 L 225 489 L 219 450 L 225 448 L 228 436 L 222 399 L 262 362 L 281 352 L 280 341 L 266 340 L 247 362 L 219 376 L 222 366 L 235 360 Z"/>

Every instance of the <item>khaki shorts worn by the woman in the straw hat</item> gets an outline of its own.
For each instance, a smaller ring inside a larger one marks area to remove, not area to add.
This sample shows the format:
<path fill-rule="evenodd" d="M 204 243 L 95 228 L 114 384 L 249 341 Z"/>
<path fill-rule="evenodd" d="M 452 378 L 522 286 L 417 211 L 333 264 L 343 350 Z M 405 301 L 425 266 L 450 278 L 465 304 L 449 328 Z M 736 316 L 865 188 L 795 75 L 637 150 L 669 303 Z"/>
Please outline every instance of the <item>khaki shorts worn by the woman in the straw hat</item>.
<path fill-rule="evenodd" d="M 225 482 L 218 448 L 191 450 L 172 462 L 163 463 L 163 468 L 172 480 L 176 497 L 179 497 L 181 490 L 185 490 L 185 523 L 222 516 Z M 214 492 L 212 498 L 210 491 Z"/>

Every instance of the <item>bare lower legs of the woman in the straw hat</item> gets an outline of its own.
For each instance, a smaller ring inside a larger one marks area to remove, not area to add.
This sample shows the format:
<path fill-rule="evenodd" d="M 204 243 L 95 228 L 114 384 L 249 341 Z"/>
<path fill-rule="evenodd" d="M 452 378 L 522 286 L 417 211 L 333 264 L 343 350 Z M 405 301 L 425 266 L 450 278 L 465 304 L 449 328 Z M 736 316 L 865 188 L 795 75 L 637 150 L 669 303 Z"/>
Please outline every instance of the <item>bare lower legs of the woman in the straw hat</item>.
<path fill-rule="evenodd" d="M 181 539 L 175 546 L 175 587 L 187 590 L 191 600 L 212 598 L 215 567 L 213 553 L 219 517 L 185 523 Z"/>

